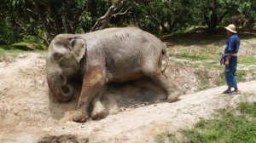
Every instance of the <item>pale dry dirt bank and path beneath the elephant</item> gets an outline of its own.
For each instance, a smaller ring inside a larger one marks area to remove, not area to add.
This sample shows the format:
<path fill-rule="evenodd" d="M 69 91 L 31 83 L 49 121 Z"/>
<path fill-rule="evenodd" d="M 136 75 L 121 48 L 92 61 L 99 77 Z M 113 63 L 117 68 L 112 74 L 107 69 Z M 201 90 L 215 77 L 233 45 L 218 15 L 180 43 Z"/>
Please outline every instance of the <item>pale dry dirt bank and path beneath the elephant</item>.
<path fill-rule="evenodd" d="M 166 75 L 183 89 L 173 103 L 158 102 L 149 90 L 112 85 L 103 97 L 108 116 L 74 123 L 77 100 L 49 101 L 44 54 L 20 54 L 0 62 L 0 142 L 155 142 L 157 134 L 190 128 L 203 117 L 238 102 L 256 101 L 256 81 L 239 83 L 243 94 L 217 87 L 196 92 L 189 69 L 168 66 Z"/>

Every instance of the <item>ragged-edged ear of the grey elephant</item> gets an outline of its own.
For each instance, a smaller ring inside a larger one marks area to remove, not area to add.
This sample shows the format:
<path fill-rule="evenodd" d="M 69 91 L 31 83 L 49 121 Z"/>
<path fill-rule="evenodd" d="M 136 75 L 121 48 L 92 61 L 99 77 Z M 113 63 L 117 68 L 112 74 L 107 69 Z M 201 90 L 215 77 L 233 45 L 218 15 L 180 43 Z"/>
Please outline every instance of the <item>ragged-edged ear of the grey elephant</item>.
<path fill-rule="evenodd" d="M 84 57 L 86 50 L 86 40 L 84 38 L 74 37 L 71 40 L 71 51 L 75 60 L 78 62 Z"/>

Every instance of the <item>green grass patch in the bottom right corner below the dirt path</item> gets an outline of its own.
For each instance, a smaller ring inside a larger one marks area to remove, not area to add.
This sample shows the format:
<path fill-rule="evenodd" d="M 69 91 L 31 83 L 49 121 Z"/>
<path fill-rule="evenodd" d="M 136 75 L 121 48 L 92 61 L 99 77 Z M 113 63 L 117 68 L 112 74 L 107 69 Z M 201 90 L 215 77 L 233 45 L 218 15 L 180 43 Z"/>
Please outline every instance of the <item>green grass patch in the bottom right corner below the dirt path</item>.
<path fill-rule="evenodd" d="M 246 94 L 244 94 L 246 95 Z M 256 95 L 256 94 L 253 94 Z M 166 135 L 171 134 L 175 142 L 256 142 L 256 102 L 242 102 L 235 109 L 218 111 L 213 119 L 201 119 L 192 129 L 181 129 L 182 138 L 177 140 L 171 132 L 159 134 L 159 143 L 169 142 Z"/>

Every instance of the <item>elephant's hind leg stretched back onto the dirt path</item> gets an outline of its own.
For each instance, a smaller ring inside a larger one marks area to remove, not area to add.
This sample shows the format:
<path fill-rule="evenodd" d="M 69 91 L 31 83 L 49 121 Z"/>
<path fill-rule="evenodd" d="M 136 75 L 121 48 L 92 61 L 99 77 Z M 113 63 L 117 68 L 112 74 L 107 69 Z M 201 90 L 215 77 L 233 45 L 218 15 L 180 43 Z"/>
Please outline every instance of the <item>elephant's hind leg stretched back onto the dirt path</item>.
<path fill-rule="evenodd" d="M 174 83 L 171 83 L 161 72 L 151 72 L 146 74 L 151 78 L 154 83 L 159 84 L 159 86 L 166 91 L 168 94 L 167 101 L 172 102 L 177 100 L 180 95 L 180 89 Z"/>

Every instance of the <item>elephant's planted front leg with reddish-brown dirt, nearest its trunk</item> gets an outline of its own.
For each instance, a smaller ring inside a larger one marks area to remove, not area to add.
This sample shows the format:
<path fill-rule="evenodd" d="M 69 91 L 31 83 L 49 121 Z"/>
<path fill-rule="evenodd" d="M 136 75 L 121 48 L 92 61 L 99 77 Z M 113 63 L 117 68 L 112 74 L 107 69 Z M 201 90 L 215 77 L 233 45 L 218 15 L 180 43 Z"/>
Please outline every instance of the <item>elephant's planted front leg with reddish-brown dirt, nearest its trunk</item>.
<path fill-rule="evenodd" d="M 85 122 L 89 118 L 88 107 L 90 102 L 99 90 L 102 89 L 105 81 L 101 69 L 91 70 L 89 74 L 84 77 L 82 91 L 79 97 L 79 103 L 76 112 L 73 114 L 73 121 Z"/>

